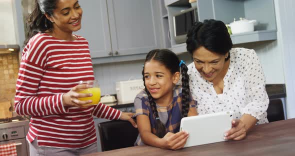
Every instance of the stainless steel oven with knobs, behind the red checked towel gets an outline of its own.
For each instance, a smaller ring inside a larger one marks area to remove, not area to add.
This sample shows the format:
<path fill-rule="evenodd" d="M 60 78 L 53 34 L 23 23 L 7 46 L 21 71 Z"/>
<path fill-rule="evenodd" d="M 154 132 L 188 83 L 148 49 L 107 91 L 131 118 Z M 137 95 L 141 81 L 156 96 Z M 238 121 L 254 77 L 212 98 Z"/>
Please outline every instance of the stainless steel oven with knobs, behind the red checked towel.
<path fill-rule="evenodd" d="M 25 135 L 29 120 L 23 116 L 0 119 L 0 144 L 16 143 L 17 155 L 29 155 L 28 142 Z"/>

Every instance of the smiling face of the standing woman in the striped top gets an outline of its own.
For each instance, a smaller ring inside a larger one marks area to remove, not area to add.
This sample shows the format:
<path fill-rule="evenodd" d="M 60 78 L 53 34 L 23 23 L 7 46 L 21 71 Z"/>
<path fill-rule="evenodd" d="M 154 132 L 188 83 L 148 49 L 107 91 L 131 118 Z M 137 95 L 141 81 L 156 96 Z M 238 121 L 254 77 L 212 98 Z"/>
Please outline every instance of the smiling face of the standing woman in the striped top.
<path fill-rule="evenodd" d="M 82 12 L 78 0 L 57 0 L 52 16 L 46 16 L 53 22 L 54 29 L 72 32 L 81 28 Z"/>

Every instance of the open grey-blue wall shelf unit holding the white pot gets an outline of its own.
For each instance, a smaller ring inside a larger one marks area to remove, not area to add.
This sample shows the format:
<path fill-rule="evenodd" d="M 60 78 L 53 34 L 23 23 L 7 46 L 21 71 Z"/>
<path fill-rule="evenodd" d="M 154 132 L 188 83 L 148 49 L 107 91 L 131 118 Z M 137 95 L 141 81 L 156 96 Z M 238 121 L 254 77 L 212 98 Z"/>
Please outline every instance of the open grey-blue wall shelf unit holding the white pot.
<path fill-rule="evenodd" d="M 240 17 L 257 21 L 254 31 L 230 35 L 233 44 L 277 38 L 273 0 L 197 0 L 197 5 L 200 21 L 213 18 L 230 23 Z"/>

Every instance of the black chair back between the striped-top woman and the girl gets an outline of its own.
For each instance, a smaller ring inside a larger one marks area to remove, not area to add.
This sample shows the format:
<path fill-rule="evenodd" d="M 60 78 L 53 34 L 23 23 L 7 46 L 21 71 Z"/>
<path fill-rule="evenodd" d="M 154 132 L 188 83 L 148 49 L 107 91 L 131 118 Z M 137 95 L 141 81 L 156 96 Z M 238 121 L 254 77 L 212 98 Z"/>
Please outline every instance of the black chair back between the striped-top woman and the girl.
<path fill-rule="evenodd" d="M 98 123 L 101 151 L 134 146 L 138 129 L 128 121 L 112 120 Z"/>

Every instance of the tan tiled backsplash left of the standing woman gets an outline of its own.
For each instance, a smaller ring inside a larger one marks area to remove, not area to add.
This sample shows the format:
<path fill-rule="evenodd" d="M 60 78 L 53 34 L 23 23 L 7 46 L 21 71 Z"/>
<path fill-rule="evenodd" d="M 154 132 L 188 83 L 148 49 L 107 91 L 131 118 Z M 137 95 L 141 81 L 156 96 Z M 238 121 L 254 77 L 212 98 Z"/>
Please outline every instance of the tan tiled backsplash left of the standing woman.
<path fill-rule="evenodd" d="M 18 52 L 0 54 L 0 101 L 11 101 L 15 95 L 18 60 Z"/>

